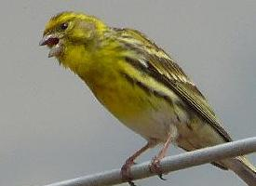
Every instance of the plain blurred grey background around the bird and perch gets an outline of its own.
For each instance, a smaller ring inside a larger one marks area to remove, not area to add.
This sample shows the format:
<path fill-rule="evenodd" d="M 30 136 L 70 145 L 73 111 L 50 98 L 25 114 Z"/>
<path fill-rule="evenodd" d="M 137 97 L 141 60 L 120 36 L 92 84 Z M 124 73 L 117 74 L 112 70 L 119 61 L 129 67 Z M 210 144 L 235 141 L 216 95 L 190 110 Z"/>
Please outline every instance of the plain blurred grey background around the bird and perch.
<path fill-rule="evenodd" d="M 88 12 L 147 33 L 171 52 L 236 140 L 256 136 L 256 2 L 222 0 L 2 0 L 0 7 L 0 185 L 43 185 L 120 167 L 145 143 L 95 100 L 74 73 L 39 47 L 62 10 Z M 144 154 L 150 160 L 158 149 Z M 172 147 L 168 154 L 182 153 Z M 250 155 L 256 164 L 256 155 Z M 244 185 L 205 165 L 138 185 Z"/>

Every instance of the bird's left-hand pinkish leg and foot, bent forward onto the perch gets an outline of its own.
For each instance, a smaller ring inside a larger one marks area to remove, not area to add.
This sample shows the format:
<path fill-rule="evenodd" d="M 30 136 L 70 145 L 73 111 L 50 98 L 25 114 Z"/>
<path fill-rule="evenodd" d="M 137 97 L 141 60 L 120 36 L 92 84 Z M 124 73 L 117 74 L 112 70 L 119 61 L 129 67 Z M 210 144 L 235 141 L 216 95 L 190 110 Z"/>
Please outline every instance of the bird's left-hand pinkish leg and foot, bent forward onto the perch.
<path fill-rule="evenodd" d="M 133 166 L 134 160 L 139 157 L 141 155 L 141 153 L 144 153 L 146 150 L 148 150 L 149 148 L 154 147 L 156 144 L 155 139 L 151 139 L 147 142 L 147 144 L 145 146 L 143 146 L 139 151 L 137 151 L 136 153 L 134 153 L 133 155 L 131 155 L 126 163 L 122 166 L 121 168 L 121 177 L 123 180 L 128 181 L 130 186 L 134 186 L 135 184 L 132 182 L 132 177 L 130 175 L 130 167 Z"/>

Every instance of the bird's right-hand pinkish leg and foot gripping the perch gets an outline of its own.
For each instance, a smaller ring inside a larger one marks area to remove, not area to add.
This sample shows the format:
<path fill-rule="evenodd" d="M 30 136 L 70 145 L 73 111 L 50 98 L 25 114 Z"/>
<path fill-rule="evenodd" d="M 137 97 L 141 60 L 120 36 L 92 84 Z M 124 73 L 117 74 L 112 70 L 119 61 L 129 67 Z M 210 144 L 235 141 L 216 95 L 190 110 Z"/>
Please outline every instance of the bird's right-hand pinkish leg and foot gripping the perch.
<path fill-rule="evenodd" d="M 160 166 L 160 161 L 166 156 L 166 153 L 168 151 L 168 146 L 170 142 L 173 140 L 173 137 L 170 133 L 168 133 L 168 140 L 166 140 L 163 148 L 161 151 L 153 158 L 151 165 L 149 166 L 149 169 L 151 172 L 156 173 L 160 179 L 163 179 L 163 169 Z M 165 180 L 165 179 L 164 179 Z"/>

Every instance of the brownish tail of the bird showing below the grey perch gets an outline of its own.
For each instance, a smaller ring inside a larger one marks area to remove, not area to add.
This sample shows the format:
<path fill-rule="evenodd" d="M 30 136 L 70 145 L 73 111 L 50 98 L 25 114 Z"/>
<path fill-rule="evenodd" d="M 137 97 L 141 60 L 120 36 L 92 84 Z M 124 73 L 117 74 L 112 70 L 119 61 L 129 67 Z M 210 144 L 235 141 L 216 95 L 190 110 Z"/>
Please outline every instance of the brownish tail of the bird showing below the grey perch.
<path fill-rule="evenodd" d="M 256 186 L 256 167 L 252 166 L 245 156 L 227 159 L 223 163 L 249 186 Z"/>

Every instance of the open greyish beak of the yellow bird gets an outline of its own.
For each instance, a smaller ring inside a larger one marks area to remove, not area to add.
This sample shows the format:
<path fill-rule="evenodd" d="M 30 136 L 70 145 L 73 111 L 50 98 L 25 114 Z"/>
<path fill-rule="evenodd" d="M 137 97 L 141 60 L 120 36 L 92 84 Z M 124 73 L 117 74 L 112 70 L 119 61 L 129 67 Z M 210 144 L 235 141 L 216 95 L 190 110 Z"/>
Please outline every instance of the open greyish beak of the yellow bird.
<path fill-rule="evenodd" d="M 49 46 L 48 58 L 59 57 L 62 53 L 63 46 L 60 43 L 60 37 L 54 33 L 46 34 L 39 42 L 39 46 Z"/>

